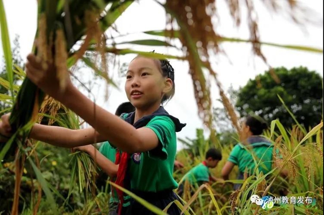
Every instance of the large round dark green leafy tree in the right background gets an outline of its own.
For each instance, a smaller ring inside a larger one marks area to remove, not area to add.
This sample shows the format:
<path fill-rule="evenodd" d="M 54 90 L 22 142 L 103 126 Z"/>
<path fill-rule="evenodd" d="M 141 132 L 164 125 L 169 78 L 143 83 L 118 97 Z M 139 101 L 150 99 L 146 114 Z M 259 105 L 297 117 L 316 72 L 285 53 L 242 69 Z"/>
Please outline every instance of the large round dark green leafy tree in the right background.
<path fill-rule="evenodd" d="M 270 71 L 249 80 L 237 94 L 236 107 L 241 116 L 253 112 L 268 123 L 279 119 L 282 125 L 295 124 L 277 95 L 286 103 L 297 121 L 306 128 L 317 125 L 322 119 L 322 77 L 305 67 L 288 70 L 274 69 L 280 83 L 272 78 Z"/>

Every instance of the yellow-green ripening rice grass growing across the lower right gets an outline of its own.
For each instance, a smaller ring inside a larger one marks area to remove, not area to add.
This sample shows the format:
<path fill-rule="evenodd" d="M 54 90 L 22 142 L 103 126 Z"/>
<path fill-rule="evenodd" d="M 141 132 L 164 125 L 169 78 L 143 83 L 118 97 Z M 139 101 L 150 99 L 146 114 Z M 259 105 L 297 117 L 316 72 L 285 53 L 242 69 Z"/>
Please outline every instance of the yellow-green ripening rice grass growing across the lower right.
<path fill-rule="evenodd" d="M 256 211 L 261 214 L 322 214 L 322 123 L 306 134 L 299 129 L 298 125 L 289 130 L 283 128 L 279 121 L 273 121 L 273 125 L 272 131 L 266 132 L 264 136 L 274 142 L 275 147 L 279 149 L 283 158 L 279 159 L 274 153 L 276 168 L 270 172 L 269 176 L 271 177 L 267 180 L 266 175 L 260 174 L 258 171 L 246 180 L 236 180 L 238 169 L 235 167 L 230 174 L 230 180 L 225 182 L 225 186 L 219 182 L 213 184 L 212 187 L 216 191 L 216 196 L 218 196 L 217 204 L 222 211 L 221 214 L 253 214 L 256 213 Z M 215 170 L 212 170 L 215 176 L 220 177 L 221 169 L 233 145 L 223 146 L 223 159 Z M 201 148 L 201 150 L 205 150 L 205 147 Z M 193 164 L 189 164 L 187 162 L 186 152 L 182 151 L 178 154 L 178 159 L 184 164 L 187 164 L 184 168 L 184 172 L 186 172 L 201 162 L 204 157 L 201 156 L 200 160 L 195 159 Z M 258 163 L 256 163 L 256 167 L 257 166 Z M 287 180 L 278 176 L 278 172 L 281 168 L 285 168 L 289 171 Z M 182 173 L 176 173 L 177 178 L 181 178 L 182 176 Z M 241 183 L 242 187 L 240 190 L 232 192 L 230 183 Z M 268 191 L 267 187 L 270 184 L 274 191 L 272 193 L 265 193 L 265 190 Z M 195 187 L 191 187 L 191 189 L 195 189 Z M 313 197 L 316 199 L 316 205 L 312 207 L 309 205 L 275 205 L 269 210 L 264 210 L 258 208 L 256 204 L 246 198 L 249 191 L 259 196 L 280 196 L 284 195 L 281 191 L 286 191 L 285 195 L 288 197 Z M 196 196 L 196 204 L 193 210 L 199 211 L 199 214 L 211 214 L 209 210 L 210 205 L 213 205 L 214 210 L 217 208 L 217 205 L 213 204 L 208 192 L 200 190 L 200 193 L 201 195 Z"/>

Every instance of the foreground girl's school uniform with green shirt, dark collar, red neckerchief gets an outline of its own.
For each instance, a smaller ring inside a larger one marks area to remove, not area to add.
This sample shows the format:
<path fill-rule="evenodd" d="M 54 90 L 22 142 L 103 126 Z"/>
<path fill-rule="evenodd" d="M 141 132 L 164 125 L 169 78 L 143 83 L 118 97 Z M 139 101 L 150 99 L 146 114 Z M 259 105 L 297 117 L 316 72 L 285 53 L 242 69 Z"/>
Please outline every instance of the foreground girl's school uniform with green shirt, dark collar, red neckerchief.
<path fill-rule="evenodd" d="M 169 115 L 160 106 L 152 115 L 145 116 L 134 123 L 135 112 L 120 116 L 135 128 L 150 128 L 158 138 L 158 146 L 153 150 L 128 154 L 123 152 L 117 173 L 116 183 L 132 191 L 139 197 L 160 209 L 164 209 L 174 200 L 179 200 L 173 192 L 178 187 L 173 178 L 173 167 L 177 152 L 176 132 L 186 125 Z M 127 135 L 127 134 L 125 134 Z M 127 205 L 121 207 L 119 214 L 154 214 L 146 207 L 132 198 L 123 198 L 119 190 L 119 203 Z M 180 214 L 180 209 L 175 205 L 168 209 L 168 214 Z"/>

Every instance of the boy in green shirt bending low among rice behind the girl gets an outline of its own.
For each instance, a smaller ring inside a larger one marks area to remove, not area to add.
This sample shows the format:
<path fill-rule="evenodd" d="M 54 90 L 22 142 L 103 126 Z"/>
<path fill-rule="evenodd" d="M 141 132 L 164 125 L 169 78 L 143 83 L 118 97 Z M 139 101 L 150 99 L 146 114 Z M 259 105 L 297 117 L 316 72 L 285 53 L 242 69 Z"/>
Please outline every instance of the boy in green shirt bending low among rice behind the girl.
<path fill-rule="evenodd" d="M 188 181 L 192 186 L 200 186 L 202 184 L 215 182 L 218 179 L 213 177 L 209 171 L 210 168 L 216 168 L 218 162 L 222 159 L 222 154 L 216 148 L 211 148 L 207 151 L 205 160 L 192 168 L 185 176 L 184 181 Z M 183 194 L 183 183 L 179 185 L 178 194 Z M 192 194 L 192 192 L 191 192 Z"/>

